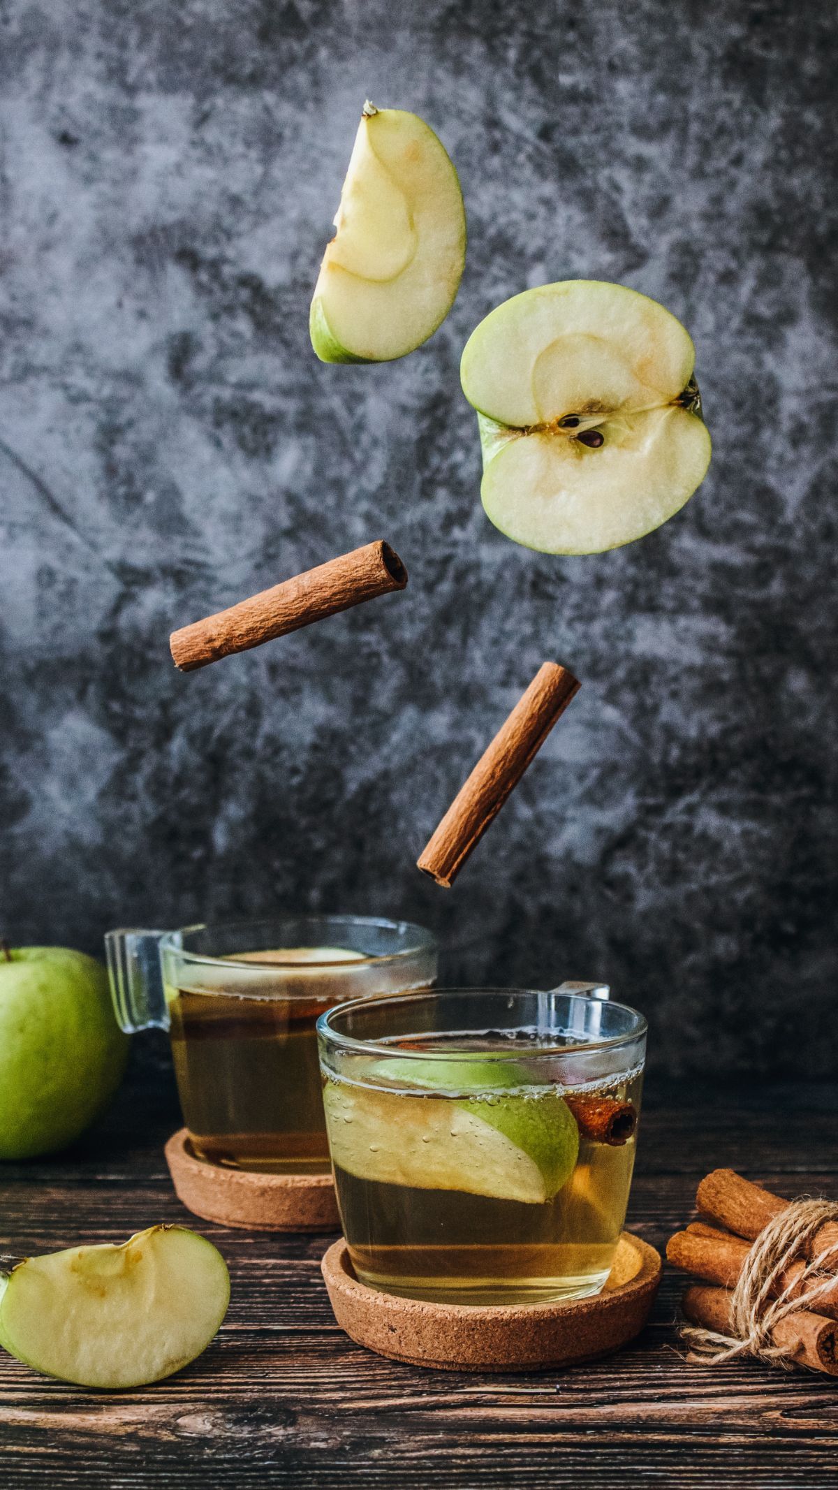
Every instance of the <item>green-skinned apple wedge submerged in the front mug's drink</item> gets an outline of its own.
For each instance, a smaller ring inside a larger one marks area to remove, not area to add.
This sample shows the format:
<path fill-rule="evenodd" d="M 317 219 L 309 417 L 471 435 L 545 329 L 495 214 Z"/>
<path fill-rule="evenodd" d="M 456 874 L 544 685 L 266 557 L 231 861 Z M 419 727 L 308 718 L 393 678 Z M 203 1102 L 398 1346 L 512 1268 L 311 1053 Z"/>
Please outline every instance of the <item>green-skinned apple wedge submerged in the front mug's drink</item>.
<path fill-rule="evenodd" d="M 436 1061 L 383 1061 L 387 1082 L 439 1089 Z M 455 1100 L 327 1082 L 332 1162 L 359 1179 L 543 1204 L 567 1183 L 579 1129 L 560 1094 L 499 1092 L 515 1076 L 491 1061 L 447 1062 Z"/>

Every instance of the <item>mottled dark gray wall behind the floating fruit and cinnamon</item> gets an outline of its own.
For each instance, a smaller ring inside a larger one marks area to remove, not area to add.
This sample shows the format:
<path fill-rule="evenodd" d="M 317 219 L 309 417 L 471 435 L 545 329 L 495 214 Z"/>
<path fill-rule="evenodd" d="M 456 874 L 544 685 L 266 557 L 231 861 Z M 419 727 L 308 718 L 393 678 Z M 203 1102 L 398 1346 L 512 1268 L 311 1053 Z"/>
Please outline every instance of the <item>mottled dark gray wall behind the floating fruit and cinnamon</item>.
<path fill-rule="evenodd" d="M 406 18 L 405 18 L 406 16 Z M 670 1071 L 838 1067 L 832 3 L 0 0 L 1 918 L 414 916 L 450 976 L 598 976 Z M 332 368 L 308 301 L 365 95 L 460 170 L 454 311 Z M 691 329 L 659 533 L 484 517 L 476 322 L 569 276 Z M 411 584 L 180 676 L 168 632 L 372 538 Z M 545 657 L 583 679 L 455 888 L 414 867 Z"/>

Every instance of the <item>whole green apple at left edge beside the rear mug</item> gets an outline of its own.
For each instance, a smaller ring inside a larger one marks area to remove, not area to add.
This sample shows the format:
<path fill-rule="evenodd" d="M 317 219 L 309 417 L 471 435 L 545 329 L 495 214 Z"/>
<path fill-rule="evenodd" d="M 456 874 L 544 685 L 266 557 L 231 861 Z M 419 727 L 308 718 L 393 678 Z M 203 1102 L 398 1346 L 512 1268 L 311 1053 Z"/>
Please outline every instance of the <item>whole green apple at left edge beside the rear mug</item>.
<path fill-rule="evenodd" d="M 0 954 L 0 1159 L 73 1143 L 109 1104 L 127 1056 L 101 963 L 61 946 Z"/>

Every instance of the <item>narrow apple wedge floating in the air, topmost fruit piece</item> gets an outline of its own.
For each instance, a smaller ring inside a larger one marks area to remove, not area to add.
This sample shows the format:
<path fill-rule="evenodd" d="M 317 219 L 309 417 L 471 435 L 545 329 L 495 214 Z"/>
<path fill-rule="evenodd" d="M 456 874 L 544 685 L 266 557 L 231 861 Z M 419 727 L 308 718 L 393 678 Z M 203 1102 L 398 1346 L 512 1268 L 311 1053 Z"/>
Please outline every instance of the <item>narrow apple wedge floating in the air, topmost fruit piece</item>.
<path fill-rule="evenodd" d="M 317 356 L 414 352 L 445 320 L 466 261 L 457 171 L 415 113 L 363 106 L 335 226 L 311 301 Z"/>

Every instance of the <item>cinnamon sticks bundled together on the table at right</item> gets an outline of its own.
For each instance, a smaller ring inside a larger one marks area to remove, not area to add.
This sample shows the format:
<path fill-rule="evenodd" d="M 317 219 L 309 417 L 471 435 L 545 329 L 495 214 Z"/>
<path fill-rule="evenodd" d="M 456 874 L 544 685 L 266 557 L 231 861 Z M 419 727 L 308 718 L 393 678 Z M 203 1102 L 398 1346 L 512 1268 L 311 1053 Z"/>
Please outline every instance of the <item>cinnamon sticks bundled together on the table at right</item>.
<path fill-rule="evenodd" d="M 698 1186 L 695 1198 L 706 1220 L 691 1222 L 667 1244 L 667 1259 L 703 1284 L 688 1287 L 682 1310 L 691 1325 L 717 1335 L 731 1326 L 732 1289 L 752 1255 L 752 1243 L 770 1222 L 787 1211 L 784 1201 L 753 1185 L 734 1170 L 713 1170 Z M 805 1290 L 807 1261 L 829 1255 L 817 1296 L 817 1313 L 795 1308 L 771 1329 L 771 1344 L 786 1360 L 838 1377 L 838 1222 L 826 1220 L 807 1244 L 807 1255 L 789 1259 L 773 1284 L 774 1295 L 799 1298 Z M 834 1274 L 829 1283 L 829 1274 Z"/>

